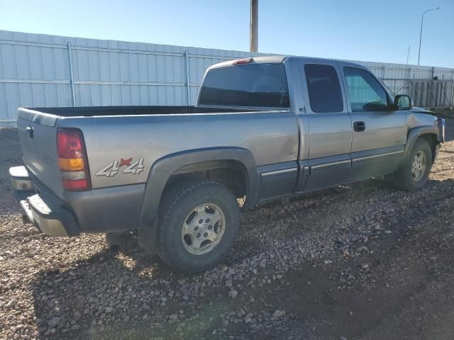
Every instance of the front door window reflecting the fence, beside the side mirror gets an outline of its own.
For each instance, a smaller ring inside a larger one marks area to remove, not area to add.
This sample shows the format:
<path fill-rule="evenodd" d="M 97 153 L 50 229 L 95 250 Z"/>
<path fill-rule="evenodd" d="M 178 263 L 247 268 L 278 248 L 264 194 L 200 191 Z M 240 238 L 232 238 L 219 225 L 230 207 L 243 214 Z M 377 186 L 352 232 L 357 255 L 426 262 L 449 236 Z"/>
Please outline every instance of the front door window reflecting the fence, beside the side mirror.
<path fill-rule="evenodd" d="M 387 110 L 387 96 L 380 83 L 369 72 L 355 67 L 344 67 L 352 111 Z"/>

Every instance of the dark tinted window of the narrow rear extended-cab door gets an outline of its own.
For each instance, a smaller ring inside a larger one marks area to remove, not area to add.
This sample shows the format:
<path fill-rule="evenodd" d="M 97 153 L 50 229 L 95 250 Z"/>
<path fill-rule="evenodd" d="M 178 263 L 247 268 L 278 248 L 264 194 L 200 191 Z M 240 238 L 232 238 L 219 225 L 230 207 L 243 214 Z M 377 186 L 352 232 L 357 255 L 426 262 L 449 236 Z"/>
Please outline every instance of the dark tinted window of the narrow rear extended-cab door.
<path fill-rule="evenodd" d="M 307 91 L 311 109 L 316 113 L 343 111 L 341 84 L 331 65 L 305 64 Z"/>

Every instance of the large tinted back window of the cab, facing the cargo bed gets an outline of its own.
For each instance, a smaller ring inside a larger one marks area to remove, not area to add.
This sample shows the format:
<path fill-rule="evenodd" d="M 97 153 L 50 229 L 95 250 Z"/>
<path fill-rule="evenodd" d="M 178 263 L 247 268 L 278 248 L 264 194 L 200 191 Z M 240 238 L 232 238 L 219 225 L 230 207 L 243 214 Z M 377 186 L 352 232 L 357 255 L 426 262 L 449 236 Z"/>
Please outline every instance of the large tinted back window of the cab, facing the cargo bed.
<path fill-rule="evenodd" d="M 200 89 L 199 104 L 289 108 L 283 64 L 244 64 L 212 69 Z"/>

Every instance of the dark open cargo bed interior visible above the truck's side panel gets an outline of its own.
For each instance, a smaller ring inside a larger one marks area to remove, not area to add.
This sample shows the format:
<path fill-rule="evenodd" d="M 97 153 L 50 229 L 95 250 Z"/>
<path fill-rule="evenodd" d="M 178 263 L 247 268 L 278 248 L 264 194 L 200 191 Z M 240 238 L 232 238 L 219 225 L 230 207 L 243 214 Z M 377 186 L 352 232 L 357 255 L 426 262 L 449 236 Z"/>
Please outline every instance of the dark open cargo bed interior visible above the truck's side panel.
<path fill-rule="evenodd" d="M 82 106 L 77 108 L 27 108 L 30 111 L 60 117 L 94 117 L 103 115 L 175 115 L 188 113 L 248 112 L 241 108 L 205 108 L 198 106 Z"/>

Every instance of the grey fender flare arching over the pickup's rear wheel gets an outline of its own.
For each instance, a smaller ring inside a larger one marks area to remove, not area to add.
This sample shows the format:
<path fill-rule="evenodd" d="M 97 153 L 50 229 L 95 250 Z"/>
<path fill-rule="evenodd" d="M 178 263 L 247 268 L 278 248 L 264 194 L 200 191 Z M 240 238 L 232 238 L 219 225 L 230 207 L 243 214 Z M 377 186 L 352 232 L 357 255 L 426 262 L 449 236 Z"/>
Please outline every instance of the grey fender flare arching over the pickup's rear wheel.
<path fill-rule="evenodd" d="M 209 161 L 236 161 L 243 164 L 248 178 L 247 199 L 244 208 L 258 200 L 260 177 L 252 152 L 241 147 L 213 147 L 177 152 L 158 159 L 150 169 L 139 220 L 138 243 L 145 250 L 155 252 L 157 215 L 160 200 L 170 176 L 189 164 Z"/>

